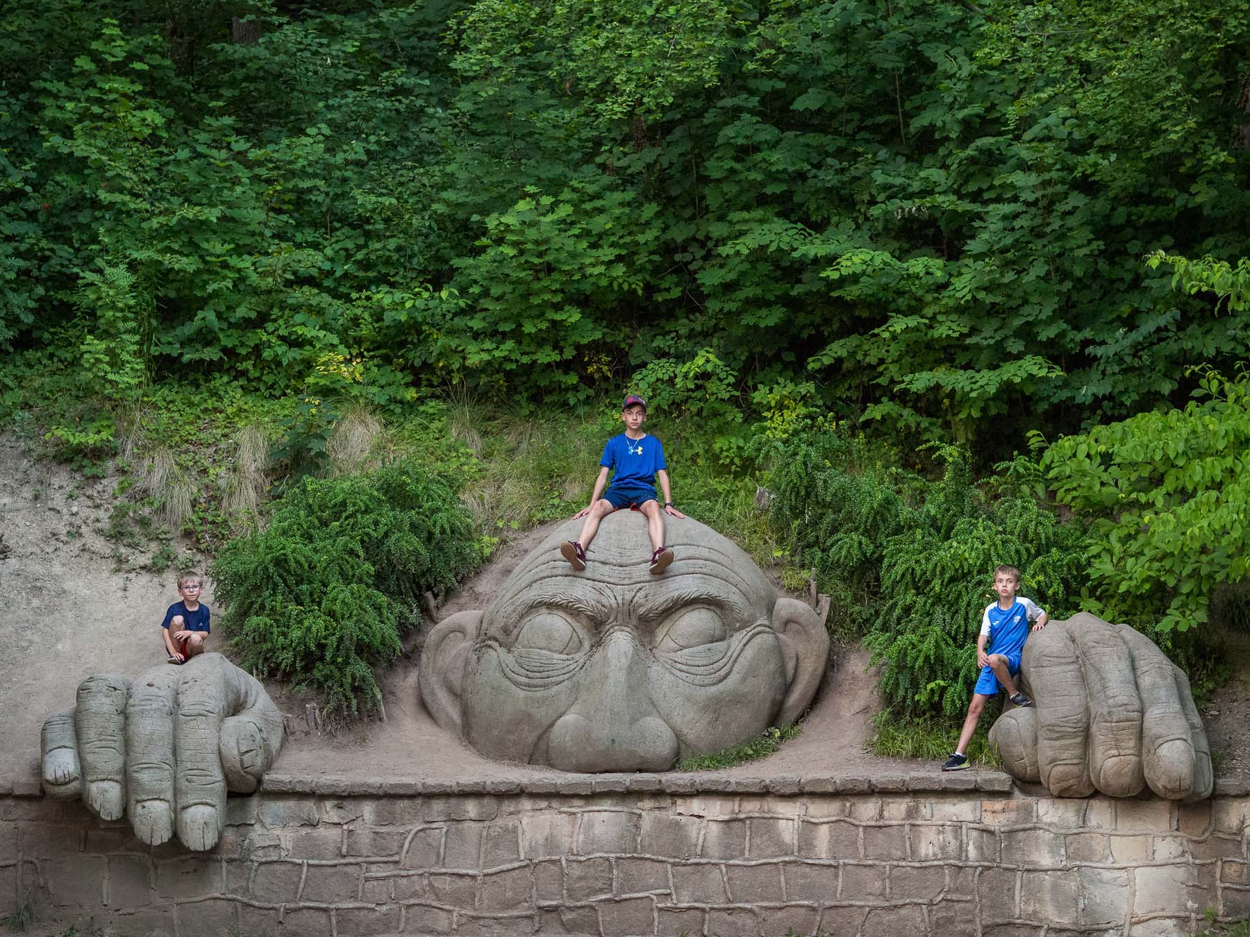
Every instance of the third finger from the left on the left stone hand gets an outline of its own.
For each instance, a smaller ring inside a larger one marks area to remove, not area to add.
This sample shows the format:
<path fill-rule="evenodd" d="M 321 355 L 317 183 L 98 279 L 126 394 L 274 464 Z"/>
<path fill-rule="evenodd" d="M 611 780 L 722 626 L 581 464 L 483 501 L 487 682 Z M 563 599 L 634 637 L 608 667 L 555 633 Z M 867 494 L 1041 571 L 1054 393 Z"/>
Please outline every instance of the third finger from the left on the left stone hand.
<path fill-rule="evenodd" d="M 154 667 L 130 687 L 126 790 L 135 836 L 159 846 L 174 836 L 174 706 L 181 672 Z"/>

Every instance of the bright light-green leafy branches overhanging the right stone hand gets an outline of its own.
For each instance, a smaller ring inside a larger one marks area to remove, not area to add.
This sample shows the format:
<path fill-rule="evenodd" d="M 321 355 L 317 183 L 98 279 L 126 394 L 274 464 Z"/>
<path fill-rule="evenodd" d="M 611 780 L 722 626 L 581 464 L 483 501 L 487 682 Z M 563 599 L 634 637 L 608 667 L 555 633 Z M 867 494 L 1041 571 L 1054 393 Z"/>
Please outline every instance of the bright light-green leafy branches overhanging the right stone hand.
<path fill-rule="evenodd" d="M 1250 568 L 1250 381 L 1206 371 L 1195 396 L 1044 457 L 1059 501 L 1094 518 L 1094 611 L 1146 631 L 1205 623 L 1211 596 Z"/>

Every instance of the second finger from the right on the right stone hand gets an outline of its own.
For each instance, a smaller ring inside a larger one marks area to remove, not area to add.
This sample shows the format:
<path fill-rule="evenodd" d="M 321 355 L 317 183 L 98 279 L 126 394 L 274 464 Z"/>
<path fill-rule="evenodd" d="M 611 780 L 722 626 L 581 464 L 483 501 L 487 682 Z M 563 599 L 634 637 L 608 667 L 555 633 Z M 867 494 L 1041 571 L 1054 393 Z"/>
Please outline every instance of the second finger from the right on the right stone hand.
<path fill-rule="evenodd" d="M 1194 786 L 1194 740 L 1172 663 L 1145 635 L 1128 626 L 1121 626 L 1121 635 L 1132 651 L 1141 692 L 1141 762 L 1146 783 L 1160 797 L 1178 800 Z"/>

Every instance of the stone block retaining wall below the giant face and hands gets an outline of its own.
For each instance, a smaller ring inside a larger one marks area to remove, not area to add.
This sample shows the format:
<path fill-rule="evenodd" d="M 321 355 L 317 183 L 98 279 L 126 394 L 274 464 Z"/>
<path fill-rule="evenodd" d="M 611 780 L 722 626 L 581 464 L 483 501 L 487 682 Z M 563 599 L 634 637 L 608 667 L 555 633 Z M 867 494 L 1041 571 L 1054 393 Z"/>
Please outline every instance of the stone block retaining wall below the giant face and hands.
<path fill-rule="evenodd" d="M 278 778 L 230 800 L 208 855 L 0 796 L 0 910 L 30 896 L 45 920 L 135 937 L 1154 937 L 1250 915 L 1246 792 L 1176 805 L 995 777 L 898 791 L 656 777 L 389 795 Z"/>

